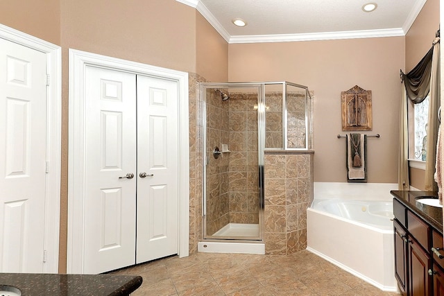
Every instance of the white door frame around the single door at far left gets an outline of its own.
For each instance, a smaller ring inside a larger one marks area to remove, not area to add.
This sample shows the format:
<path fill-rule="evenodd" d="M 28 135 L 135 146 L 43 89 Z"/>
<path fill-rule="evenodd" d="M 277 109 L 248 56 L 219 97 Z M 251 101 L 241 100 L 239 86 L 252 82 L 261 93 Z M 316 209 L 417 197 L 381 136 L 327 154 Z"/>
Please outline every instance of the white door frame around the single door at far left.
<path fill-rule="evenodd" d="M 58 272 L 60 235 L 60 168 L 62 151 L 62 49 L 0 24 L 0 38 L 46 54 L 46 196 L 43 271 Z"/>

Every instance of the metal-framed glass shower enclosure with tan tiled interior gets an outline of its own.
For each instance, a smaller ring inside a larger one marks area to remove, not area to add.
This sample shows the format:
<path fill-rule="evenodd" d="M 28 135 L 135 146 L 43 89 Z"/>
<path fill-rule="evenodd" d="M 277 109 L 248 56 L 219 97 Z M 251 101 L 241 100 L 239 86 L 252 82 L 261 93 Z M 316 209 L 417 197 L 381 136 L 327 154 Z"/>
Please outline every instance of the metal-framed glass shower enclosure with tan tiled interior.
<path fill-rule="evenodd" d="M 200 83 L 203 239 L 263 242 L 264 153 L 311 149 L 311 99 L 291 82 Z"/>

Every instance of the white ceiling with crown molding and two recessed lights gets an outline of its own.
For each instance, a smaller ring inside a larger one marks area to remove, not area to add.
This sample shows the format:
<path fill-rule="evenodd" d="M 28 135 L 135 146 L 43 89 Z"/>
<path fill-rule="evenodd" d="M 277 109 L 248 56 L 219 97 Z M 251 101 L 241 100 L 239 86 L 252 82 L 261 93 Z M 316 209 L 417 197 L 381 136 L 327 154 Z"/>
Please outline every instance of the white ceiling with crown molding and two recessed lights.
<path fill-rule="evenodd" d="M 402 36 L 427 0 L 176 0 L 196 8 L 229 43 Z M 373 12 L 364 4 L 377 3 Z M 248 25 L 239 28 L 232 19 Z"/>

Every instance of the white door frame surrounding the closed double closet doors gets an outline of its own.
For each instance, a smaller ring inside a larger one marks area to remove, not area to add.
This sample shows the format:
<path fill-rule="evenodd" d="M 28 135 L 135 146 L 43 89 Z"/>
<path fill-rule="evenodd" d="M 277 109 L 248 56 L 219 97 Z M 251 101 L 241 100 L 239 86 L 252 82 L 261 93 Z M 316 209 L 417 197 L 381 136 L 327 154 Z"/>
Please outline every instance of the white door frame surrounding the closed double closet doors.
<path fill-rule="evenodd" d="M 188 73 L 69 49 L 69 168 L 67 272 L 83 273 L 85 206 L 85 71 L 103 67 L 178 82 L 179 223 L 178 255 L 189 254 L 189 107 Z"/>

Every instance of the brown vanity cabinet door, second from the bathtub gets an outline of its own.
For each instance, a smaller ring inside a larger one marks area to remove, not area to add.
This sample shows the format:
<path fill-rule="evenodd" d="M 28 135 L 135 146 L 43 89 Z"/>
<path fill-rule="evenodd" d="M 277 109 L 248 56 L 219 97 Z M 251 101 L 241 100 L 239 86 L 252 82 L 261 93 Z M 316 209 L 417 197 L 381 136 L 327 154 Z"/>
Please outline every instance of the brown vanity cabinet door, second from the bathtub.
<path fill-rule="evenodd" d="M 429 276 L 432 259 L 414 239 L 409 239 L 409 295 L 432 295 L 433 277 Z"/>

